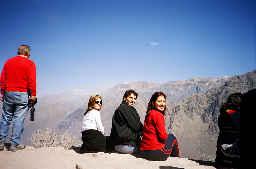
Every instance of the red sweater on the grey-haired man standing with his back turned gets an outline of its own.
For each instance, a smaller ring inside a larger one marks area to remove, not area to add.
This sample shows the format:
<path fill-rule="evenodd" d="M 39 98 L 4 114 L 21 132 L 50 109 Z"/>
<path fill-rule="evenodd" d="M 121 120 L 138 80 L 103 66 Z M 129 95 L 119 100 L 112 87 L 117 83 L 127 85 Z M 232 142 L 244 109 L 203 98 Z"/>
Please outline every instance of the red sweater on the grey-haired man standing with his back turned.
<path fill-rule="evenodd" d="M 31 92 L 36 95 L 36 66 L 28 58 L 16 56 L 8 59 L 0 76 L 1 94 L 4 91 Z"/>

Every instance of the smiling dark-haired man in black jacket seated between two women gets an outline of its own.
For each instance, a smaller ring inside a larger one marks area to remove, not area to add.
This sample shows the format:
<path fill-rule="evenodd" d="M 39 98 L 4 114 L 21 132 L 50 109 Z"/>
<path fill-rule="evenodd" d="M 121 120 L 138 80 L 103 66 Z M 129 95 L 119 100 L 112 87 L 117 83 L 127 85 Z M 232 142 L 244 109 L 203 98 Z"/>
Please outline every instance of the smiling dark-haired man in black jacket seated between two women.
<path fill-rule="evenodd" d="M 143 125 L 133 107 L 137 97 L 134 90 L 127 90 L 112 118 L 111 144 L 116 151 L 125 154 L 138 154 L 140 151 Z"/>

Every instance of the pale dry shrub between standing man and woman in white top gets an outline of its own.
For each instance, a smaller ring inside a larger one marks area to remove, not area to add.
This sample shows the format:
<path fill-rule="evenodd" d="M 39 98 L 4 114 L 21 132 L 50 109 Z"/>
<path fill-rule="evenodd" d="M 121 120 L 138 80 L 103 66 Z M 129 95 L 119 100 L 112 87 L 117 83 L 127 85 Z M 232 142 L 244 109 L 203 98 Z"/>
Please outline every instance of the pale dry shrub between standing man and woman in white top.
<path fill-rule="evenodd" d="M 29 139 L 31 146 L 35 148 L 61 146 L 68 150 L 72 145 L 80 146 L 77 137 L 74 134 L 69 134 L 66 130 L 56 133 L 50 128 L 38 129 L 37 132 L 32 133 Z"/>

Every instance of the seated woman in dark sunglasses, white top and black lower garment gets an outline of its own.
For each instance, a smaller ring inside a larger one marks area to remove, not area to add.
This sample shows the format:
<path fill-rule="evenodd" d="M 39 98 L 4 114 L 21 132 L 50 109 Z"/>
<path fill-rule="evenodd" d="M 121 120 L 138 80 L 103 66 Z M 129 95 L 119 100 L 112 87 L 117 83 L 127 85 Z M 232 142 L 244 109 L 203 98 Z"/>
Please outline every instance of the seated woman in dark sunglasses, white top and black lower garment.
<path fill-rule="evenodd" d="M 84 113 L 81 153 L 106 152 L 104 127 L 101 123 L 99 112 L 101 107 L 101 97 L 92 95 L 88 102 L 88 108 Z"/>

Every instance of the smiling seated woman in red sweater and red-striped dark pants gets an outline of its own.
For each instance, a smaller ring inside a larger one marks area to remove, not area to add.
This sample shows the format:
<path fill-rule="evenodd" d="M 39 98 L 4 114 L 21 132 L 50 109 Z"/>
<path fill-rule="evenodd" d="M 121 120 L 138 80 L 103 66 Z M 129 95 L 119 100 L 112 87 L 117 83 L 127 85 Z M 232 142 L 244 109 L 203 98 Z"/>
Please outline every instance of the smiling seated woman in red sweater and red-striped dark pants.
<path fill-rule="evenodd" d="M 167 135 L 165 130 L 165 99 L 163 92 L 155 92 L 148 103 L 140 144 L 140 155 L 147 160 L 165 161 L 169 156 L 180 157 L 177 139 L 173 134 Z"/>

